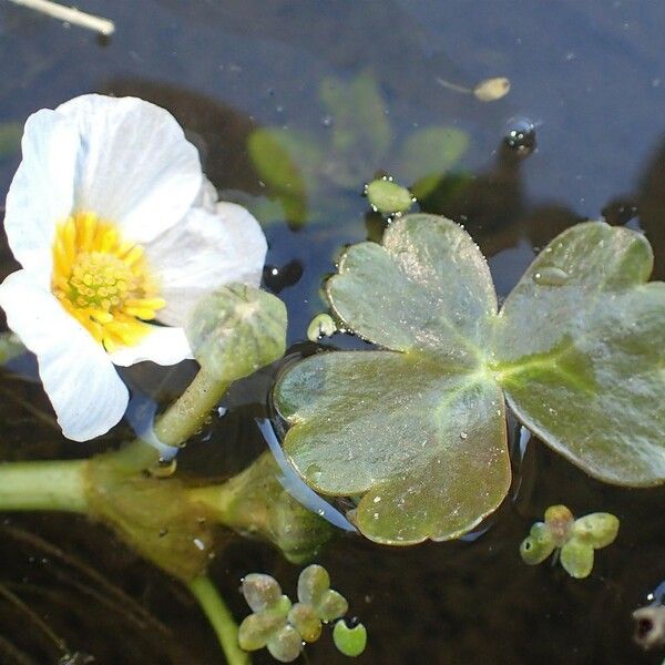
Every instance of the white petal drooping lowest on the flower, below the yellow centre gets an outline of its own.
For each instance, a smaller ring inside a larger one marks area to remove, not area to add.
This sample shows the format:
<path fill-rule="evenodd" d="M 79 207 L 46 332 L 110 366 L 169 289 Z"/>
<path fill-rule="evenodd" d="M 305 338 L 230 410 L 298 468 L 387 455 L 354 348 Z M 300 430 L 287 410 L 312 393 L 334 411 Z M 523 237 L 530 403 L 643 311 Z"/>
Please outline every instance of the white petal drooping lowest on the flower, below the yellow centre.
<path fill-rule="evenodd" d="M 127 389 L 102 346 L 27 270 L 0 285 L 0 306 L 37 355 L 62 433 L 85 441 L 109 431 L 125 411 Z"/>

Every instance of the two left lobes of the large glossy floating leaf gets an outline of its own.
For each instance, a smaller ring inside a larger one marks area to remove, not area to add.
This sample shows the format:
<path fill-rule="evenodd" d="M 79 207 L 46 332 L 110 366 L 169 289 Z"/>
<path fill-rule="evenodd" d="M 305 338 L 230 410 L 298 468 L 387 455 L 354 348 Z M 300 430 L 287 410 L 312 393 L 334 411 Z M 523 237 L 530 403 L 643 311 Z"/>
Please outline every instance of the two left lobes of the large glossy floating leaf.
<path fill-rule="evenodd" d="M 316 355 L 283 378 L 291 463 L 315 490 L 362 494 L 356 521 L 378 542 L 469 531 L 510 483 L 503 399 L 481 346 L 497 299 L 477 246 L 448 219 L 403 217 L 383 246 L 348 250 L 327 295 L 387 350 Z"/>

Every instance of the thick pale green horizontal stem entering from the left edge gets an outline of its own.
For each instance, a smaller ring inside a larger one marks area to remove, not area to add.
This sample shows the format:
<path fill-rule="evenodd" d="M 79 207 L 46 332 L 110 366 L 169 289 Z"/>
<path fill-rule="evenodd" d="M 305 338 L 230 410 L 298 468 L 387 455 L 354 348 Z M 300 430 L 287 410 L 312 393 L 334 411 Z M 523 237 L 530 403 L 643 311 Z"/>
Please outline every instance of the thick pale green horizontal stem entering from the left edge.
<path fill-rule="evenodd" d="M 0 510 L 88 512 L 88 460 L 0 464 Z"/>

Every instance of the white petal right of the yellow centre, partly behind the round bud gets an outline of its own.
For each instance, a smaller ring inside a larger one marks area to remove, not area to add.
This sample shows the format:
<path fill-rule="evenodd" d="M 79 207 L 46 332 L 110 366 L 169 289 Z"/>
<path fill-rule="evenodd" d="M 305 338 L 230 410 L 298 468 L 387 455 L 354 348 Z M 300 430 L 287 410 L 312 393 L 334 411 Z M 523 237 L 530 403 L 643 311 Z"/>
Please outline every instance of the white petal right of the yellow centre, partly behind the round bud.
<path fill-rule="evenodd" d="M 258 222 L 235 203 L 217 203 L 216 213 L 192 208 L 171 231 L 145 246 L 166 307 L 157 318 L 184 326 L 192 307 L 215 288 L 241 282 L 258 286 L 266 257 Z"/>

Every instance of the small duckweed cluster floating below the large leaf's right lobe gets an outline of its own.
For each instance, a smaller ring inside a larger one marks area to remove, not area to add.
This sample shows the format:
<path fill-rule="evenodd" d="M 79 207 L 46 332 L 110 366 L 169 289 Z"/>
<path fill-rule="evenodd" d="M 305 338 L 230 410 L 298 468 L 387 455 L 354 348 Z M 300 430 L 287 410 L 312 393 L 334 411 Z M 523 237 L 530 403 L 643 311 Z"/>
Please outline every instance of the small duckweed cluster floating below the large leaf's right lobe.
<path fill-rule="evenodd" d="M 618 533 L 618 520 L 610 513 L 591 513 L 573 518 L 565 505 L 550 505 L 545 521 L 535 522 L 520 545 L 522 561 L 542 563 L 556 552 L 571 577 L 583 579 L 593 569 L 593 551 L 606 548 Z"/>

